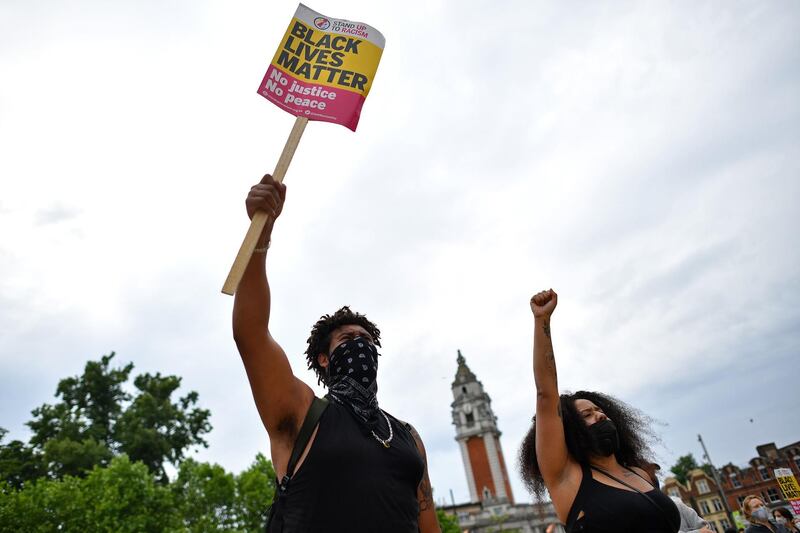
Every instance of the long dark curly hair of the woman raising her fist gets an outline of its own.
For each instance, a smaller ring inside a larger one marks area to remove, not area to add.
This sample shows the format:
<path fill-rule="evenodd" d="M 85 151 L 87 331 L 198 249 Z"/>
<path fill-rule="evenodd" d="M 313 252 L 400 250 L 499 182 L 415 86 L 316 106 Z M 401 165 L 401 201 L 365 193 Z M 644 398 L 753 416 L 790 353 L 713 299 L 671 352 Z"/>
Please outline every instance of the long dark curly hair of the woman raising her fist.
<path fill-rule="evenodd" d="M 579 399 L 591 401 L 614 422 L 619 436 L 619 449 L 614 455 L 621 465 L 637 466 L 647 470 L 653 464 L 653 452 L 650 445 L 658 441 L 658 437 L 650 428 L 653 419 L 613 396 L 590 391 L 578 391 L 574 394 L 567 393 L 560 396 L 564 440 L 567 444 L 567 452 L 575 461 L 588 465 L 591 450 L 589 426 L 575 408 L 575 400 Z M 531 429 L 525 435 L 520 446 L 519 472 L 531 494 L 541 500 L 544 496 L 545 486 L 536 457 L 535 416 Z"/>

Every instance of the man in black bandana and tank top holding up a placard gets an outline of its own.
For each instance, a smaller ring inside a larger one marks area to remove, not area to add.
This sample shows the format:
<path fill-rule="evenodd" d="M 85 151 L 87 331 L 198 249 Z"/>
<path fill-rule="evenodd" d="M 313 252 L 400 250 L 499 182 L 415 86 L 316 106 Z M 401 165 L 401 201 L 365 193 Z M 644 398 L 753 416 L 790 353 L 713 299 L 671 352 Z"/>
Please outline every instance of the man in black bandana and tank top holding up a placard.
<path fill-rule="evenodd" d="M 287 473 L 314 400 L 311 388 L 292 374 L 286 353 L 269 330 L 266 252 L 285 198 L 286 187 L 270 175 L 247 196 L 248 216 L 266 211 L 270 222 L 233 306 L 233 336 L 269 434 L 278 479 Z M 279 511 L 282 531 L 440 531 L 422 440 L 413 428 L 378 407 L 378 328 L 343 307 L 317 322 L 308 344 L 308 366 L 329 388 L 330 403 L 288 485 Z"/>

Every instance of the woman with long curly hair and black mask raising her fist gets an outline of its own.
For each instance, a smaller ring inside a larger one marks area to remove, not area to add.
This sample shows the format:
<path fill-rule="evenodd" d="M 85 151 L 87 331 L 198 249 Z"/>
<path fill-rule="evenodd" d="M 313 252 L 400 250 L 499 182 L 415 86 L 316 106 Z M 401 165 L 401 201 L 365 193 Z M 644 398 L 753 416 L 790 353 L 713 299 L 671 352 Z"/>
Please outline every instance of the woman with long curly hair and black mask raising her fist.
<path fill-rule="evenodd" d="M 522 477 L 541 497 L 550 493 L 567 532 L 675 533 L 677 507 L 655 487 L 648 419 L 598 392 L 559 396 L 550 317 L 558 296 L 531 298 L 536 416 L 520 450 Z"/>

